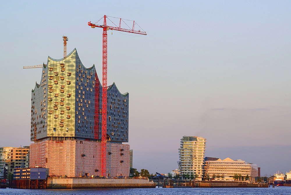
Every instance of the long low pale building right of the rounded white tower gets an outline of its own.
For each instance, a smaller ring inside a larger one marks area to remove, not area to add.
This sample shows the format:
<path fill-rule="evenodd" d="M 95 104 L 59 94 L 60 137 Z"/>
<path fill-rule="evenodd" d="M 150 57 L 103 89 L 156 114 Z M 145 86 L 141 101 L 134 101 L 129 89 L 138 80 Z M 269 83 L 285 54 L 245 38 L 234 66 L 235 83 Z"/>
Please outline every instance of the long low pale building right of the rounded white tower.
<path fill-rule="evenodd" d="M 205 157 L 205 177 L 212 180 L 235 180 L 235 175 L 241 176 L 238 180 L 254 180 L 258 175 L 258 166 L 241 159 Z"/>

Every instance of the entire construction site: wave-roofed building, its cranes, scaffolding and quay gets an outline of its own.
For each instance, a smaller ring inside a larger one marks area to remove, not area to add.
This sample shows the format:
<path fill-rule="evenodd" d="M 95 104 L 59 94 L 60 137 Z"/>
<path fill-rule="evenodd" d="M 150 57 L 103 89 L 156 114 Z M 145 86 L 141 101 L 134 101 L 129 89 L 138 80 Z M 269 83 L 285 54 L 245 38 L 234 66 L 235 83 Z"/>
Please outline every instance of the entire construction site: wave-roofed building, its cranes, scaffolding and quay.
<path fill-rule="evenodd" d="M 147 178 L 128 179 L 130 146 L 124 143 L 129 139 L 129 93 L 120 93 L 115 83 L 107 85 L 107 31 L 146 33 L 134 30 L 135 21 L 132 29 L 123 29 L 124 19 L 119 19 L 119 27 L 108 26 L 107 19 L 104 15 L 101 25 L 100 20 L 88 22 L 91 28 L 103 29 L 102 79 L 95 65 L 82 64 L 76 49 L 67 55 L 67 36 L 63 58 L 48 57 L 46 64 L 23 67 L 42 68 L 31 92 L 34 143 L 29 167 L 46 168 L 46 178 L 35 182 L 26 177 L 31 181 L 25 182 L 20 177 L 15 188 L 37 189 L 35 183 L 53 189 L 155 187 Z"/>

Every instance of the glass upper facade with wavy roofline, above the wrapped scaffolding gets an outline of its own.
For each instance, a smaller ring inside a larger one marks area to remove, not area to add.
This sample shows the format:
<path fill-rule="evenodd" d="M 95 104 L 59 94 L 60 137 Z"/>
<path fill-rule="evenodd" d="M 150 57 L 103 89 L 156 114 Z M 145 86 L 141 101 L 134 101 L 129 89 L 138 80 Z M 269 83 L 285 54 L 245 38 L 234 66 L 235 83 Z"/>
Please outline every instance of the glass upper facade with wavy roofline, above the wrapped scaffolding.
<path fill-rule="evenodd" d="M 129 94 L 113 83 L 107 99 L 107 138 L 128 142 Z M 62 59 L 48 57 L 31 94 L 31 141 L 100 140 L 101 122 L 102 85 L 95 66 L 85 68 L 76 49 Z"/>

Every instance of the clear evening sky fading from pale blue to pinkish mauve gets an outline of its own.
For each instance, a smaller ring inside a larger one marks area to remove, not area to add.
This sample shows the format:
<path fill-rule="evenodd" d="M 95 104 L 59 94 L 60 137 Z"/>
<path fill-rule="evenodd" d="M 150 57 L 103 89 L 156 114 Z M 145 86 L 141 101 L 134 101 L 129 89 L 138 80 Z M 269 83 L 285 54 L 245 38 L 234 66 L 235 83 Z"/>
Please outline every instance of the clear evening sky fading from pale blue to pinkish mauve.
<path fill-rule="evenodd" d="M 129 92 L 134 168 L 175 170 L 182 136 L 201 136 L 206 157 L 289 172 L 290 13 L 291 1 L 280 0 L 3 1 L 0 146 L 31 144 L 41 68 L 22 67 L 62 58 L 63 35 L 67 53 L 77 48 L 102 75 L 102 29 L 87 23 L 108 15 L 148 34 L 108 31 L 108 84 Z"/>

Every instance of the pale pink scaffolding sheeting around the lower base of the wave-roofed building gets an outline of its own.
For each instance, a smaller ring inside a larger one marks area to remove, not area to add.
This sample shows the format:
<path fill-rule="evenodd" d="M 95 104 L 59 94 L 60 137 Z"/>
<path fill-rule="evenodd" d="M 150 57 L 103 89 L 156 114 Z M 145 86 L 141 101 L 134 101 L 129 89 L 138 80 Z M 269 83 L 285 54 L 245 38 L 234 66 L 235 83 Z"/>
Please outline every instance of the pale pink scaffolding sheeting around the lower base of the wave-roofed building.
<path fill-rule="evenodd" d="M 30 146 L 30 167 L 47 168 L 58 177 L 101 175 L 102 143 L 84 140 L 45 140 Z M 108 176 L 129 176 L 129 145 L 107 143 Z"/>

